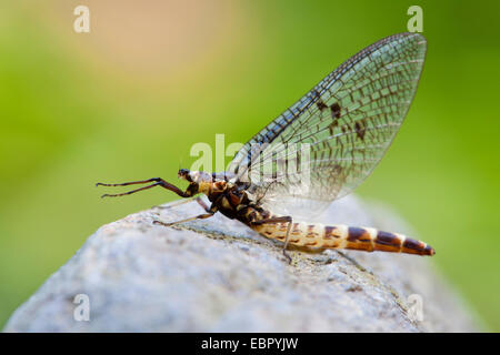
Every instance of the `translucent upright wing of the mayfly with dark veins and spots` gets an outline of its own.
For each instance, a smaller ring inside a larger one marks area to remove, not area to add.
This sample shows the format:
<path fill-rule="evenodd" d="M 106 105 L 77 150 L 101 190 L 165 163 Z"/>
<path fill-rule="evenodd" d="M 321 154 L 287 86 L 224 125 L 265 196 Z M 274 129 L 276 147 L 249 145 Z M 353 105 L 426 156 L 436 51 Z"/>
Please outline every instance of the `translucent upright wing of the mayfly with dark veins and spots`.
<path fill-rule="evenodd" d="M 350 193 L 398 132 L 426 48 L 423 36 L 400 33 L 363 49 L 247 142 L 228 171 L 281 214 Z"/>

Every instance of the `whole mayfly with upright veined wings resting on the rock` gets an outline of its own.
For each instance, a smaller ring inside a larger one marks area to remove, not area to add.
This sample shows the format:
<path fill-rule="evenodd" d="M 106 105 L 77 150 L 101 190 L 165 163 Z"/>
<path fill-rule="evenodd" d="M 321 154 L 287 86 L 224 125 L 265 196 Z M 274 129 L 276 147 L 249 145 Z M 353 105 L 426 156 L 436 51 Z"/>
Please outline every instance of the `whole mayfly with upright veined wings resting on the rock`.
<path fill-rule="evenodd" d="M 172 223 L 208 219 L 220 212 L 261 235 L 288 244 L 433 255 L 426 243 L 372 227 L 298 222 L 303 211 L 319 213 L 356 189 L 374 169 L 398 132 L 417 91 L 427 42 L 399 33 L 363 49 L 327 75 L 270 122 L 234 155 L 226 172 L 181 169 L 186 191 L 161 178 L 103 186 L 150 183 L 104 196 L 154 186 L 181 197 L 206 194 L 206 213 Z"/>

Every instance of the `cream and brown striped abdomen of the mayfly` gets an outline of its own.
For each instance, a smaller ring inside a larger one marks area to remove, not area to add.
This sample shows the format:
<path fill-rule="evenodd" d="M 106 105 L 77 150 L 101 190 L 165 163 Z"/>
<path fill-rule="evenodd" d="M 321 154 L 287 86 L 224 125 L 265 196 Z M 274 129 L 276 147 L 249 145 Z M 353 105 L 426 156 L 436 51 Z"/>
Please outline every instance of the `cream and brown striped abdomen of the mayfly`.
<path fill-rule="evenodd" d="M 288 223 L 261 224 L 251 227 L 266 237 L 284 242 Z M 434 255 L 431 246 L 398 233 L 340 224 L 328 226 L 303 222 L 292 223 L 289 243 L 298 246 Z"/>

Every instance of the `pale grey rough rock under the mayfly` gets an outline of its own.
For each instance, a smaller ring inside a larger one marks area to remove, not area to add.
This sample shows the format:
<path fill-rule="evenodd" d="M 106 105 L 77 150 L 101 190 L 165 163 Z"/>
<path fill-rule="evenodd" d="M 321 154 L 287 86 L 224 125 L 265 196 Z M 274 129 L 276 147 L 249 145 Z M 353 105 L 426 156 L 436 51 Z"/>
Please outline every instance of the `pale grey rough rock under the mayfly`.
<path fill-rule="evenodd" d="M 412 235 L 393 214 L 381 213 L 384 209 L 371 210 L 350 196 L 318 220 Z M 219 213 L 177 229 L 152 224 L 199 213 L 201 207 L 189 202 L 100 227 L 3 331 L 478 331 L 474 316 L 430 257 L 291 251 L 289 265 L 278 242 Z M 76 304 L 81 294 L 89 302 Z M 77 321 L 87 305 L 90 320 Z"/>

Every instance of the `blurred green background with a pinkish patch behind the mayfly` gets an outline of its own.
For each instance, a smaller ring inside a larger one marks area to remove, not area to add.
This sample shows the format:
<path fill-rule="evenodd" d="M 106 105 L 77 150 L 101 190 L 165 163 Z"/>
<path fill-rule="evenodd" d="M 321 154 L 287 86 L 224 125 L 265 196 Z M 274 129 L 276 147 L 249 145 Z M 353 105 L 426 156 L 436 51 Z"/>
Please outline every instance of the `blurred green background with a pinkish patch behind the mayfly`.
<path fill-rule="evenodd" d="M 73 9 L 90 8 L 90 33 Z M 246 142 L 423 8 L 427 62 L 401 132 L 358 190 L 400 211 L 500 331 L 500 2 L 2 1 L 0 325 L 104 223 L 176 196 L 193 143 Z"/>

